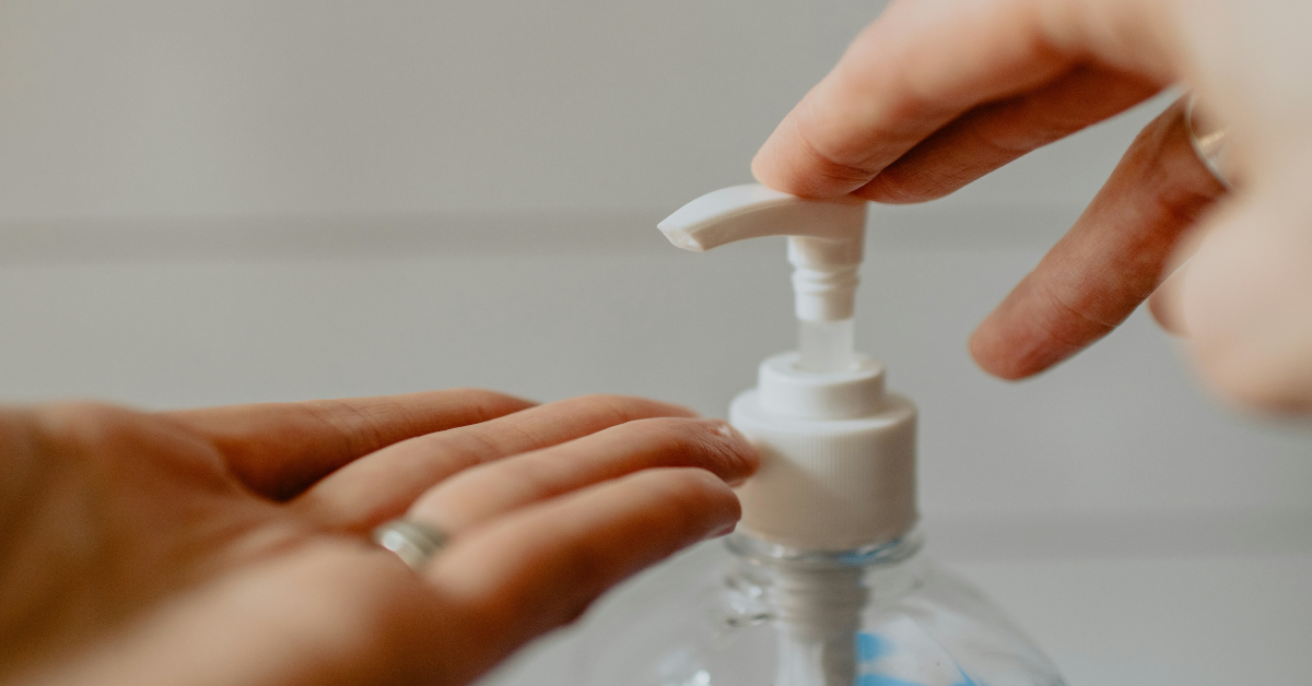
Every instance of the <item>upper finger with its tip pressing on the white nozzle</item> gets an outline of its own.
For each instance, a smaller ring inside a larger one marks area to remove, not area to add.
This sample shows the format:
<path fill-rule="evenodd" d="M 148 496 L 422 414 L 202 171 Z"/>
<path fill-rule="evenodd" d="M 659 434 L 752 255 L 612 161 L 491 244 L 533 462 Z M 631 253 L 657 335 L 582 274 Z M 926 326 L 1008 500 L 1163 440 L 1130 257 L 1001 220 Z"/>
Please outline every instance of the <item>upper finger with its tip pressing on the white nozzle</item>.
<path fill-rule="evenodd" d="M 779 123 L 752 171 L 778 190 L 842 195 L 962 114 L 1081 64 L 1161 88 L 1173 73 L 1156 24 L 1132 1 L 893 3 Z"/>

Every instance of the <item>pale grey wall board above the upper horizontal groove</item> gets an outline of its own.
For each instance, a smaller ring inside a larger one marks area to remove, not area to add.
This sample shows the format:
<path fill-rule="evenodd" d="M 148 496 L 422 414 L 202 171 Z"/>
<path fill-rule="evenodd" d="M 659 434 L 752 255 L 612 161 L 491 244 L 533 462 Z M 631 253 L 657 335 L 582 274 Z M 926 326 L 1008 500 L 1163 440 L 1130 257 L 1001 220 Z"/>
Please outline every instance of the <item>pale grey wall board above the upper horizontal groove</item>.
<path fill-rule="evenodd" d="M 666 209 L 882 7 L 3 0 L 0 219 Z M 1082 201 L 1141 121 L 960 199 Z"/>

